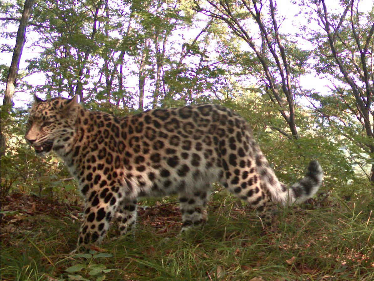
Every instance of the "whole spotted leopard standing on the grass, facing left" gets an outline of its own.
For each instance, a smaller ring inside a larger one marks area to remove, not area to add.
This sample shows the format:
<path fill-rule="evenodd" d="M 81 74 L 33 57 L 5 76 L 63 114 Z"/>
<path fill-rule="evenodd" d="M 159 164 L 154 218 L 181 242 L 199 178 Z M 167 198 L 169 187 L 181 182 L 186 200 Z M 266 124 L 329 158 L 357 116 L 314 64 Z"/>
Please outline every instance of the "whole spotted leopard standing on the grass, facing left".
<path fill-rule="evenodd" d="M 25 139 L 41 157 L 55 152 L 77 181 L 85 206 L 71 253 L 99 244 L 112 220 L 120 235 L 134 229 L 142 197 L 177 195 L 185 232 L 207 221 L 209 196 L 218 184 L 271 224 L 276 205 L 306 201 L 323 179 L 321 165 L 312 160 L 298 182 L 280 182 L 249 123 L 215 104 L 119 117 L 86 109 L 78 96 L 34 95 Z"/>

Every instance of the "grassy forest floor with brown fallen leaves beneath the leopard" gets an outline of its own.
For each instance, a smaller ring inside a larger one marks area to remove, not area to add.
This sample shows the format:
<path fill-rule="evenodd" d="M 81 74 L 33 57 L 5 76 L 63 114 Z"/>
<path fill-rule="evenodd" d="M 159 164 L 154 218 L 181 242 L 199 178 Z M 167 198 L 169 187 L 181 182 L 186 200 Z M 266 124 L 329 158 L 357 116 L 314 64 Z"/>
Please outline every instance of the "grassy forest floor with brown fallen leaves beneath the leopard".
<path fill-rule="evenodd" d="M 173 198 L 139 210 L 135 235 L 112 227 L 70 256 L 82 206 L 13 193 L 1 199 L 0 280 L 374 280 L 374 214 L 328 198 L 280 209 L 267 232 L 255 213 L 214 194 L 205 226 L 178 236 Z M 147 202 L 145 202 L 147 203 Z"/>

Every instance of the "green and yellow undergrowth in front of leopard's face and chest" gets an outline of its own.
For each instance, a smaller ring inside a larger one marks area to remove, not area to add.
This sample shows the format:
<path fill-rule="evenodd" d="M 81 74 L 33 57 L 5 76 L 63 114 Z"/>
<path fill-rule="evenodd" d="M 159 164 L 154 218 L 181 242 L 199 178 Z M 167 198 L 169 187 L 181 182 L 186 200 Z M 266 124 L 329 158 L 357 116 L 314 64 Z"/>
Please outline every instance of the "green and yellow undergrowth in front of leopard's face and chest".
<path fill-rule="evenodd" d="M 8 140 L 8 147 L 1 157 L 1 196 L 10 190 L 50 195 L 69 184 L 59 180 L 70 177 L 63 163 L 53 156 L 37 158 L 26 145 L 24 132 L 27 118 L 28 111 L 22 108 L 13 108 L 10 114 L 1 111 L 2 133 Z"/>

